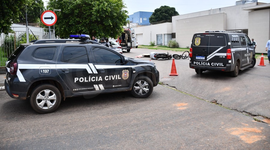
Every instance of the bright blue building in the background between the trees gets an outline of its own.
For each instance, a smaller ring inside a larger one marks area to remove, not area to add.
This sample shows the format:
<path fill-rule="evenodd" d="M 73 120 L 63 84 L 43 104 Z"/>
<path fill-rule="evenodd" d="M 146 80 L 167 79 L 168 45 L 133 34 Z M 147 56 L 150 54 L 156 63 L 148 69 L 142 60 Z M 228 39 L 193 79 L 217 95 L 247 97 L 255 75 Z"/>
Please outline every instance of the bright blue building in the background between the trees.
<path fill-rule="evenodd" d="M 130 23 L 137 23 L 138 25 L 145 25 L 150 23 L 149 17 L 152 15 L 153 12 L 145 12 L 145 11 L 138 11 L 136 13 L 133 13 L 133 15 L 129 15 Z"/>

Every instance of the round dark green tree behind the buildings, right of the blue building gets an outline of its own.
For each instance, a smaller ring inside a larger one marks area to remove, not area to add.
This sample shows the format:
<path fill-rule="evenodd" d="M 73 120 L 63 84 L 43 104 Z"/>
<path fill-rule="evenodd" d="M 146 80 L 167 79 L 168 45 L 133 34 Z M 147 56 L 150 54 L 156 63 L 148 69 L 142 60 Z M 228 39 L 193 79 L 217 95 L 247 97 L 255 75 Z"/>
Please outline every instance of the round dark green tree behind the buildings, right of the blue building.
<path fill-rule="evenodd" d="M 158 22 L 163 20 L 171 20 L 172 16 L 177 16 L 179 13 L 175 10 L 175 7 L 161 6 L 155 9 L 155 12 L 149 18 L 149 22 Z"/>

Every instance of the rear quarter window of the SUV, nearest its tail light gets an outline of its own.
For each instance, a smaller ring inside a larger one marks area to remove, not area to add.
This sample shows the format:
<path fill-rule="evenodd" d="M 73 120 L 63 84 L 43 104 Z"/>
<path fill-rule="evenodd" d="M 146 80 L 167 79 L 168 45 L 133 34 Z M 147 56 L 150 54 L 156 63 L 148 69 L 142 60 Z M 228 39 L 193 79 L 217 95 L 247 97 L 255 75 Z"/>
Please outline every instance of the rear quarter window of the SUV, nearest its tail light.
<path fill-rule="evenodd" d="M 55 55 L 56 47 L 43 47 L 35 51 L 34 57 L 44 60 L 52 60 Z"/>

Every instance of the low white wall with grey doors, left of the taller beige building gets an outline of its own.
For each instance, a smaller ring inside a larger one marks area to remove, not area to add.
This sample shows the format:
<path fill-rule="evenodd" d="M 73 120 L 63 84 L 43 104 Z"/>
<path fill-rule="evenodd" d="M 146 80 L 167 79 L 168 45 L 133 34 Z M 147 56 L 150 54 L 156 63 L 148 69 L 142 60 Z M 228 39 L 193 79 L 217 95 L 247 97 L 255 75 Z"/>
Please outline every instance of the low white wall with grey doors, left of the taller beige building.
<path fill-rule="evenodd" d="M 143 26 L 132 28 L 135 30 L 135 34 L 139 35 L 137 37 L 138 44 L 140 45 L 150 45 L 150 41 L 155 41 L 155 45 L 157 45 L 157 35 L 162 34 L 164 40 L 164 34 L 172 33 L 172 23 L 161 23 L 157 25 Z M 140 36 L 142 34 L 143 36 Z M 141 38 L 142 37 L 142 38 Z M 140 42 L 140 43 L 139 43 Z M 163 42 L 164 44 L 164 42 Z"/>

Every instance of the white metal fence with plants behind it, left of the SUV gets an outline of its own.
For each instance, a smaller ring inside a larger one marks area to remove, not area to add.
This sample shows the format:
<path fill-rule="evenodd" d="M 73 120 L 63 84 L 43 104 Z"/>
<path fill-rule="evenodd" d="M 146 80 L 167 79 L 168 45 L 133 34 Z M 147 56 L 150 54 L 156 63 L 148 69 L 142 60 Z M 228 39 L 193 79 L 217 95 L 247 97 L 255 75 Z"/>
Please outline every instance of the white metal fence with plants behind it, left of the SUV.
<path fill-rule="evenodd" d="M 49 29 L 45 28 L 26 28 L 26 27 L 11 27 L 13 33 L 0 36 L 0 67 L 4 67 L 7 57 L 19 47 L 20 44 L 27 43 L 37 39 L 49 39 Z M 28 30 L 28 33 L 27 33 Z M 55 37 L 55 33 L 51 29 L 51 37 Z"/>

